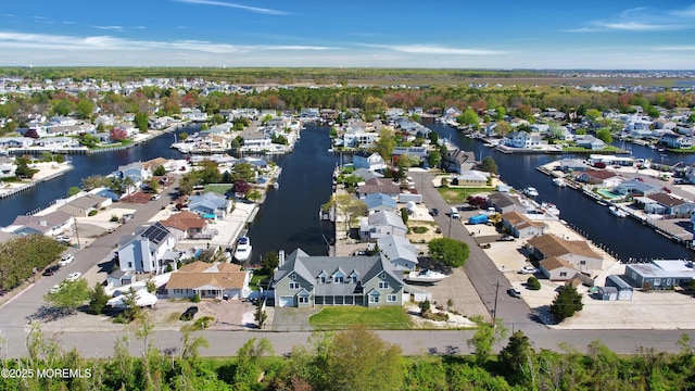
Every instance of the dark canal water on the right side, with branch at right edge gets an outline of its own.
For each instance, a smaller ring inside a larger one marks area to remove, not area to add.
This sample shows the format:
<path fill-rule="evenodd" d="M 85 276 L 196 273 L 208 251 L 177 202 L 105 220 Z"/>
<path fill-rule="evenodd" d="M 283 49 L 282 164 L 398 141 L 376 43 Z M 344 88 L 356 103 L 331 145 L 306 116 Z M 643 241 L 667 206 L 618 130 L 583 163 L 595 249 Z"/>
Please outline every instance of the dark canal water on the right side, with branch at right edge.
<path fill-rule="evenodd" d="M 496 152 L 483 146 L 482 142 L 471 140 L 450 126 L 438 123 L 426 123 L 440 136 L 451 139 L 466 151 L 475 151 L 476 157 L 481 160 L 491 155 L 497 163 L 502 180 L 521 189 L 533 186 L 539 190 L 539 201 L 546 201 L 557 205 L 560 217 L 583 231 L 596 243 L 606 245 L 620 260 L 636 258 L 691 258 L 692 252 L 683 245 L 656 234 L 652 229 L 639 224 L 632 218 L 617 218 L 608 212 L 606 206 L 582 195 L 570 188 L 558 188 L 553 185 L 551 177 L 538 172 L 536 166 L 560 159 L 556 155 L 514 155 Z M 620 142 L 620 146 L 622 143 Z M 634 157 L 661 161 L 661 152 L 631 146 Z M 694 155 L 666 154 L 664 162 L 690 164 L 695 162 Z"/>

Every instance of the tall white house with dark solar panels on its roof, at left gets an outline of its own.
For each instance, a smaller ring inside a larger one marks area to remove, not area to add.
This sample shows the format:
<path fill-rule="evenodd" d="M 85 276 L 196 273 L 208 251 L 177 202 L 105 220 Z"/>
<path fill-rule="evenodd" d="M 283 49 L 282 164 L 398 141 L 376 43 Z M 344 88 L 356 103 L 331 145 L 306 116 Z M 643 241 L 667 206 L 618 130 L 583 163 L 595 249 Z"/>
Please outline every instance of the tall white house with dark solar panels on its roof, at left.
<path fill-rule="evenodd" d="M 176 237 L 161 223 L 154 223 L 118 248 L 118 266 L 125 272 L 161 274 L 164 255 L 175 244 Z"/>

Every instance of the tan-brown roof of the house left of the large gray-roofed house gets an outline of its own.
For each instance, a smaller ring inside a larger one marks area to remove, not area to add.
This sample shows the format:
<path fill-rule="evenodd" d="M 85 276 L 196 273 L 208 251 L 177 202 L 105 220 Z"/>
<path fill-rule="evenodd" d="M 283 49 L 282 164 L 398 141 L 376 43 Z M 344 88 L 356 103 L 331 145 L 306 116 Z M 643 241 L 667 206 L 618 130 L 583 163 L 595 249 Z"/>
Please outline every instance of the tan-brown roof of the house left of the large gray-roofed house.
<path fill-rule="evenodd" d="M 208 264 L 201 261 L 184 265 L 172 273 L 166 289 L 197 289 L 205 286 L 219 289 L 241 289 L 247 279 L 247 272 L 231 263 Z"/>

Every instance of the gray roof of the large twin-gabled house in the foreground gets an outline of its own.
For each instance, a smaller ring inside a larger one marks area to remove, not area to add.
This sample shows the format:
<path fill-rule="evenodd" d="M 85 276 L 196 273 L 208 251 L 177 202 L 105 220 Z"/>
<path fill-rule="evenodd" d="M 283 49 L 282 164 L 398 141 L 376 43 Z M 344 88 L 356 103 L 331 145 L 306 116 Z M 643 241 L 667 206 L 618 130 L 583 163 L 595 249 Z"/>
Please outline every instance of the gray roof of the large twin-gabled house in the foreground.
<path fill-rule="evenodd" d="M 356 273 L 361 282 L 366 282 L 384 272 L 402 281 L 402 277 L 395 273 L 393 265 L 381 256 L 309 256 L 302 249 L 294 250 L 286 257 L 282 266 L 273 275 L 273 281 L 275 285 L 294 272 L 317 289 L 330 289 L 331 294 L 340 294 L 336 293 L 337 290 L 354 292 L 355 283 L 353 282 L 316 283 L 321 272 L 332 276 L 338 270 L 342 270 L 345 278 Z"/>

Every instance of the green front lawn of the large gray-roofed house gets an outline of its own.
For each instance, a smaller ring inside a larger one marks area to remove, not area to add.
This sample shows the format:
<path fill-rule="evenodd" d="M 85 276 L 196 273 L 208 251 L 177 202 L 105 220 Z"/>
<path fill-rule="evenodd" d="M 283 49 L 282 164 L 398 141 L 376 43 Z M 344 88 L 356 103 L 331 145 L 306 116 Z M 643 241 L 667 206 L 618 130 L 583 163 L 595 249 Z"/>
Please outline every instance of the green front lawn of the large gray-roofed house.
<path fill-rule="evenodd" d="M 327 306 L 308 318 L 315 329 L 344 329 L 363 325 L 370 329 L 409 330 L 410 319 L 402 306 L 367 308 L 362 306 Z"/>

